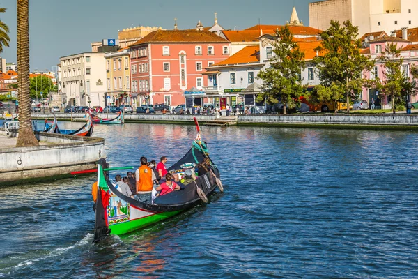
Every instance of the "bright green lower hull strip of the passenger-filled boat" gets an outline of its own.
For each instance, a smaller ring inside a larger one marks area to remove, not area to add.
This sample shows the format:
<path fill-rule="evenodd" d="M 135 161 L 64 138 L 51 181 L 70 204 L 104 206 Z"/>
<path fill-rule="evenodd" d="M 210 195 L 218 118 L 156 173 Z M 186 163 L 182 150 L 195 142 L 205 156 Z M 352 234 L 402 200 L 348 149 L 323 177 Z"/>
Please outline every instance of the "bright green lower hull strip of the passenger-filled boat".
<path fill-rule="evenodd" d="M 136 229 L 141 229 L 141 227 L 146 227 L 152 225 L 154 223 L 158 223 L 161 220 L 170 218 L 172 216 L 177 215 L 180 211 L 171 211 L 171 212 L 162 212 L 157 213 L 151 216 L 146 216 L 144 218 L 139 218 L 136 220 L 130 220 L 123 223 L 116 223 L 113 225 L 109 225 L 109 229 L 111 229 L 110 234 L 126 234 L 128 232 L 133 232 Z"/>

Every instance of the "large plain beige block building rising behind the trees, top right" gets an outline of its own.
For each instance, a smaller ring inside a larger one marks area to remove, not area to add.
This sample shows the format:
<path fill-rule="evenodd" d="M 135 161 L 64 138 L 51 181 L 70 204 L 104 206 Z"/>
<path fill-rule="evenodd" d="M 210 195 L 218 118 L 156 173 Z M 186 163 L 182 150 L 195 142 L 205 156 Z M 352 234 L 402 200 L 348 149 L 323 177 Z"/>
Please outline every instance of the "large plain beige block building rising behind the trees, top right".
<path fill-rule="evenodd" d="M 309 3 L 309 26 L 326 30 L 330 20 L 350 20 L 359 34 L 418 25 L 417 0 L 326 0 Z"/>

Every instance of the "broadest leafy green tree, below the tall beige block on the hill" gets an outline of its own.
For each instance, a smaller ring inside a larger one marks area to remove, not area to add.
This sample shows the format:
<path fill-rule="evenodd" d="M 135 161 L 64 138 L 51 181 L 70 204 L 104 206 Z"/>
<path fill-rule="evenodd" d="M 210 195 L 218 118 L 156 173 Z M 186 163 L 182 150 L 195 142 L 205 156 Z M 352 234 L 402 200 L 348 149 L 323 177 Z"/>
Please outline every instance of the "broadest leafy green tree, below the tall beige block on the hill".
<path fill-rule="evenodd" d="M 320 84 L 311 93 L 309 100 L 341 101 L 346 98 L 347 112 L 350 100 L 358 97 L 365 82 L 364 70 L 373 67 L 369 57 L 360 54 L 361 41 L 358 27 L 348 20 L 343 26 L 331 20 L 331 26 L 320 34 L 321 45 L 315 50 L 320 54 L 314 64 L 320 74 Z"/>

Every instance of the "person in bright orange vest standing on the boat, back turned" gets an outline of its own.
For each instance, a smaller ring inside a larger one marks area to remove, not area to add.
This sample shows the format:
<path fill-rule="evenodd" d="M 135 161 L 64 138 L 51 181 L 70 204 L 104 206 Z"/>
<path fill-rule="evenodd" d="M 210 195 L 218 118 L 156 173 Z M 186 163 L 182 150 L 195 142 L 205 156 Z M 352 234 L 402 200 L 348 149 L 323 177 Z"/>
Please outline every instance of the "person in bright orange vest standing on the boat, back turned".
<path fill-rule="evenodd" d="M 153 190 L 153 181 L 157 178 L 155 177 L 153 169 L 150 169 L 147 163 L 147 158 L 141 157 L 141 167 L 135 172 L 135 179 L 137 181 L 137 195 L 135 198 L 139 200 L 139 202 L 150 203 L 152 201 L 151 191 Z"/>

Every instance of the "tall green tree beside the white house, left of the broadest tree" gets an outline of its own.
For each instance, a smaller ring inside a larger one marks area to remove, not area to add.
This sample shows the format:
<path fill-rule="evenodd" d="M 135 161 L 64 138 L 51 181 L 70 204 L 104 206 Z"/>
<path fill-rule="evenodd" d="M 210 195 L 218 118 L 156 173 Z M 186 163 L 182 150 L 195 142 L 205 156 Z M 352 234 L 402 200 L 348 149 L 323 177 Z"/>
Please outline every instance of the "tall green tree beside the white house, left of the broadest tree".
<path fill-rule="evenodd" d="M 300 80 L 300 73 L 304 69 L 304 52 L 293 41 L 293 35 L 288 27 L 277 31 L 278 41 L 273 45 L 274 56 L 270 61 L 270 68 L 261 70 L 258 78 L 263 80 L 263 93 L 258 94 L 257 100 L 266 100 L 270 105 L 279 102 L 289 107 L 297 105 L 304 86 Z"/>

